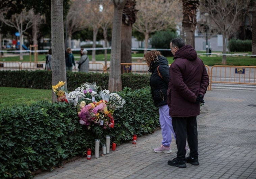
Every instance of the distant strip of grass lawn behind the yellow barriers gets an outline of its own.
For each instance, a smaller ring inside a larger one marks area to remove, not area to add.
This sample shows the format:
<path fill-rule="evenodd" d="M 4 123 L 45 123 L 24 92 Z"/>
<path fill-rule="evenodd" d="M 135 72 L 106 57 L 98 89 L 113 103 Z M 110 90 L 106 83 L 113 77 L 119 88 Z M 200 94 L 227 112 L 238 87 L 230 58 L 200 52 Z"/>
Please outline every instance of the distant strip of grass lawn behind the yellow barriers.
<path fill-rule="evenodd" d="M 204 53 L 204 52 L 203 52 Z M 212 52 L 215 53 L 215 52 Z M 249 52 L 248 52 L 249 53 Z M 249 53 L 251 54 L 251 52 Z M 38 55 L 38 61 L 45 61 L 45 56 L 46 54 L 39 54 Z M 79 60 L 79 54 L 74 54 L 75 60 Z M 92 55 L 88 55 L 89 59 L 92 59 Z M 143 54 L 132 54 L 132 57 L 143 57 Z M 211 56 L 199 56 L 205 65 L 208 66 L 213 66 L 213 65 L 221 65 L 222 62 L 222 56 L 216 56 L 216 55 L 211 55 Z M 173 62 L 173 57 L 167 56 L 166 57 L 169 61 L 169 64 Z M 15 57 L 1 57 L 1 61 L 19 61 L 20 62 L 20 57 L 15 56 Z M 29 55 L 24 55 L 22 61 L 29 61 L 30 57 Z M 34 61 L 34 56 L 31 56 L 31 61 Z M 110 54 L 107 54 L 107 59 L 110 61 Z M 104 60 L 104 54 L 98 54 L 96 55 L 96 61 L 103 61 Z M 136 61 L 133 59 L 133 61 Z M 256 58 L 252 58 L 250 56 L 237 56 L 237 57 L 232 57 L 232 56 L 227 56 L 227 65 L 236 65 L 236 66 L 256 66 Z"/>

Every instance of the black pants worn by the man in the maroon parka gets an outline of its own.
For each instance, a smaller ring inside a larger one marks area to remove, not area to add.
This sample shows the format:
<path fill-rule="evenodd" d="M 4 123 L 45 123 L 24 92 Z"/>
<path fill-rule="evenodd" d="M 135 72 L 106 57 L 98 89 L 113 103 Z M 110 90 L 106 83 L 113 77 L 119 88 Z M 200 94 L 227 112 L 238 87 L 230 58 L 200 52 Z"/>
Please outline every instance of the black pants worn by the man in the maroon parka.
<path fill-rule="evenodd" d="M 190 149 L 190 157 L 198 157 L 198 133 L 197 116 L 193 117 L 172 117 L 173 130 L 176 136 L 178 148 L 177 158 L 185 159 L 186 140 Z"/>

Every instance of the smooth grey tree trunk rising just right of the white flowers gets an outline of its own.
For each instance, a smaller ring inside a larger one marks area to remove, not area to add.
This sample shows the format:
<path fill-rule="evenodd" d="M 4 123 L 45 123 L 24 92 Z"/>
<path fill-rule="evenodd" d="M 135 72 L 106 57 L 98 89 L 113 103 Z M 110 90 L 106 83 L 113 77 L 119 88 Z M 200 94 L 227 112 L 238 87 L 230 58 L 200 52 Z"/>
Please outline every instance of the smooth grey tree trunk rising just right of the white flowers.
<path fill-rule="evenodd" d="M 110 72 L 108 80 L 108 90 L 121 91 L 121 28 L 122 28 L 122 13 L 126 0 L 113 0 L 114 3 L 114 18 L 112 28 L 112 44 L 111 44 L 111 59 Z"/>

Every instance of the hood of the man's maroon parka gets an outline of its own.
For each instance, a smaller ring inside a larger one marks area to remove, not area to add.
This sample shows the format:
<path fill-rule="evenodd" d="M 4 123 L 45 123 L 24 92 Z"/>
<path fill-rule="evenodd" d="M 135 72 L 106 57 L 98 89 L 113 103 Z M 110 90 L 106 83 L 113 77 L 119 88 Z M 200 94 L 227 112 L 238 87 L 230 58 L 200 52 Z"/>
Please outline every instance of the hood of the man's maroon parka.
<path fill-rule="evenodd" d="M 197 59 L 197 52 L 192 46 L 185 45 L 177 50 L 177 52 L 175 52 L 174 59 L 176 58 L 183 58 L 189 61 L 194 61 Z"/>

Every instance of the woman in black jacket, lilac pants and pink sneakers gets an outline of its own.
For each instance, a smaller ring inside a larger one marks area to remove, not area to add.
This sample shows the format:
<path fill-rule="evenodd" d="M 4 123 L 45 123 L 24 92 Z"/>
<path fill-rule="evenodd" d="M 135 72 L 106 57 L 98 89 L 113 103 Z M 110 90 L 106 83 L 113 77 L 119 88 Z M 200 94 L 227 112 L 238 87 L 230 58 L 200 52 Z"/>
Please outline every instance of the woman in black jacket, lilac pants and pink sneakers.
<path fill-rule="evenodd" d="M 161 55 L 161 52 L 156 50 L 146 52 L 144 58 L 149 67 L 149 72 L 152 73 L 150 77 L 151 94 L 155 106 L 159 108 L 159 122 L 163 137 L 161 147 L 153 150 L 157 153 L 171 153 L 170 144 L 174 130 L 167 105 L 167 89 L 170 79 L 168 60 Z"/>

